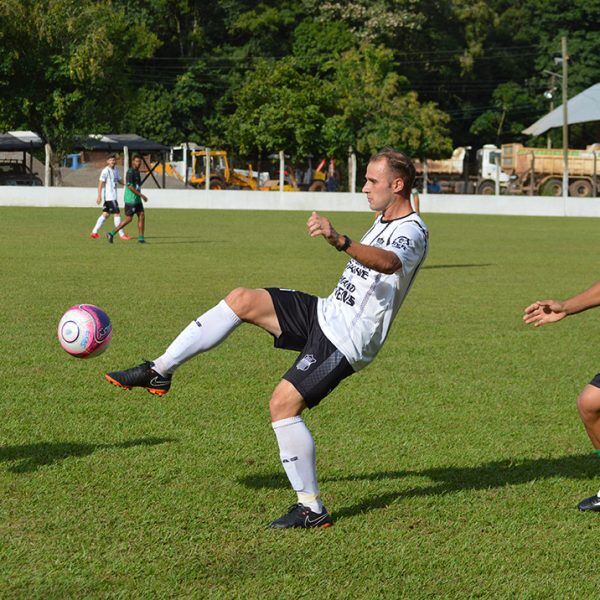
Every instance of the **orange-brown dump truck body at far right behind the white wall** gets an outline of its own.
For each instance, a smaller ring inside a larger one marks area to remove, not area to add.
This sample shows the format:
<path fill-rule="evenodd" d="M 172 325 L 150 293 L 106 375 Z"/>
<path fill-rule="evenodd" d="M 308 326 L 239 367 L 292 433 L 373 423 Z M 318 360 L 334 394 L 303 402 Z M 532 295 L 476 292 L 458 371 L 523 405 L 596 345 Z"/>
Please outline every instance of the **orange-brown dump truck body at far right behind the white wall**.
<path fill-rule="evenodd" d="M 562 196 L 563 151 L 561 148 L 526 148 L 502 145 L 502 170 L 511 177 L 509 192 Z M 568 150 L 569 195 L 579 198 L 598 194 L 600 144 L 585 150 Z"/>

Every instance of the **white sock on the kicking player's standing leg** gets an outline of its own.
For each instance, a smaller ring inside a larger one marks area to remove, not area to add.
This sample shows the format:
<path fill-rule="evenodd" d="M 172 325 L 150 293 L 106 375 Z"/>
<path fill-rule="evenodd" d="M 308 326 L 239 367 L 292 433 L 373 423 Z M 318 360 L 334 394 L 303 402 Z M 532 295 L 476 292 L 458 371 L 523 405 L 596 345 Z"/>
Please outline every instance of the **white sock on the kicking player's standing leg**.
<path fill-rule="evenodd" d="M 323 512 L 317 485 L 315 442 L 302 417 L 275 421 L 273 431 L 279 444 L 281 464 L 298 494 L 298 502 L 316 513 Z"/>

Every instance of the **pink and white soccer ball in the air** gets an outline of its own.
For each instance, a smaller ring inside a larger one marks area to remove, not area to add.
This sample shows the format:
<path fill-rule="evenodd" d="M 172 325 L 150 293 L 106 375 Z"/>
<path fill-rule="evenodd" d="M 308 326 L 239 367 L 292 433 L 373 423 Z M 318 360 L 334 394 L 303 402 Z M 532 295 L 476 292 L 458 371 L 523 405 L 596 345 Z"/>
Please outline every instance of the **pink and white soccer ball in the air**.
<path fill-rule="evenodd" d="M 102 354 L 110 343 L 112 325 L 108 315 L 93 304 L 77 304 L 62 316 L 58 341 L 63 350 L 77 358 Z"/>

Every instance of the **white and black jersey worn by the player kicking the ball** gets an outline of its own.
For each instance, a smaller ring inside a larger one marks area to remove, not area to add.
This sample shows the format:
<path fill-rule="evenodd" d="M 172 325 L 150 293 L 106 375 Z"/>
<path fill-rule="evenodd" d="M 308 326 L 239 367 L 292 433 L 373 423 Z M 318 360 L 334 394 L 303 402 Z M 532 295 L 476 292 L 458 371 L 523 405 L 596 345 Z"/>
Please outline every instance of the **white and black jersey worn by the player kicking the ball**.
<path fill-rule="evenodd" d="M 319 298 L 319 326 L 355 371 L 366 367 L 383 345 L 427 256 L 428 237 L 415 213 L 390 221 L 378 217 L 361 243 L 393 252 L 402 268 L 386 275 L 351 259 L 331 295 Z"/>

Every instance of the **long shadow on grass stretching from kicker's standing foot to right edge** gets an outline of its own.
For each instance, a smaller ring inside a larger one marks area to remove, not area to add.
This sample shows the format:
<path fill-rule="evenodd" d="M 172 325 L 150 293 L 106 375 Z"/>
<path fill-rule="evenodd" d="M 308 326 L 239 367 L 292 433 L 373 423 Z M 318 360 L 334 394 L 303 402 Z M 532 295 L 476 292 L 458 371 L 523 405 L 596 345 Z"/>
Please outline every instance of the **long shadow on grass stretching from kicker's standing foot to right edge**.
<path fill-rule="evenodd" d="M 380 471 L 345 477 L 324 477 L 322 481 L 387 481 L 404 477 L 427 477 L 435 482 L 435 485 L 369 496 L 357 504 L 338 510 L 334 517 L 339 518 L 352 517 L 378 508 L 386 508 L 393 502 L 403 498 L 440 496 L 464 490 L 484 490 L 506 485 L 521 485 L 538 479 L 555 477 L 593 479 L 597 478 L 598 475 L 600 475 L 598 459 L 590 454 L 577 454 L 560 458 L 501 460 L 484 463 L 477 467 L 442 467 L 421 471 Z M 239 479 L 239 482 L 246 487 L 255 489 L 289 487 L 285 475 L 281 473 L 249 475 Z"/>

